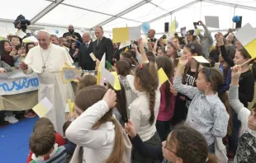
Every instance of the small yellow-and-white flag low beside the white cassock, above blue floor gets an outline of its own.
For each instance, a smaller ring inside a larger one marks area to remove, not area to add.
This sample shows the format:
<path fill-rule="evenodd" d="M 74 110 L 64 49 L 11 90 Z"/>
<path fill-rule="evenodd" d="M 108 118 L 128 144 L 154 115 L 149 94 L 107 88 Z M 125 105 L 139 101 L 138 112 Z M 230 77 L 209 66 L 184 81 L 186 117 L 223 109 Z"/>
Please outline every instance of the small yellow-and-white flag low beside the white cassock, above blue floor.
<path fill-rule="evenodd" d="M 33 110 L 35 113 L 41 118 L 44 117 L 50 109 L 52 109 L 53 105 L 50 103 L 46 97 L 40 101 L 36 106 L 34 106 Z"/>

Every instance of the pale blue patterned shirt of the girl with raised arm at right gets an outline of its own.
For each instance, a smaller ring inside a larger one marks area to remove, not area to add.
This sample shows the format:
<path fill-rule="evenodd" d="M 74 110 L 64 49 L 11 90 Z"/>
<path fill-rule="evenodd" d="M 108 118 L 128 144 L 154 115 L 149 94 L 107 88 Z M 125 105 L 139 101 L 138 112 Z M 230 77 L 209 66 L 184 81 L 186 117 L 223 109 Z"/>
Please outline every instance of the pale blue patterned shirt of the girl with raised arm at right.
<path fill-rule="evenodd" d="M 217 93 L 204 95 L 197 87 L 183 85 L 182 77 L 175 77 L 173 86 L 192 99 L 186 123 L 206 138 L 208 146 L 214 142 L 215 137 L 225 137 L 230 115 Z"/>

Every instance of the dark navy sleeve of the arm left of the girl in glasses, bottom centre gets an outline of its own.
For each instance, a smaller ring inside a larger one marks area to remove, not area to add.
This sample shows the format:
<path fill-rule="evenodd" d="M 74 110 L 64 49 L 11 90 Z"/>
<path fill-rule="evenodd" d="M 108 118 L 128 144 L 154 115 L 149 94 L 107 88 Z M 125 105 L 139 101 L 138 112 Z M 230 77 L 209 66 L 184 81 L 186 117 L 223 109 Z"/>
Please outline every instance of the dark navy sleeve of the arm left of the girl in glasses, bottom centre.
<path fill-rule="evenodd" d="M 145 142 L 142 142 L 138 134 L 136 135 L 136 137 L 131 139 L 130 142 L 135 147 L 135 150 L 139 151 L 140 155 L 148 158 L 153 158 L 155 160 L 163 161 L 164 156 L 161 144 L 159 144 L 159 147 L 152 147 L 146 145 Z"/>

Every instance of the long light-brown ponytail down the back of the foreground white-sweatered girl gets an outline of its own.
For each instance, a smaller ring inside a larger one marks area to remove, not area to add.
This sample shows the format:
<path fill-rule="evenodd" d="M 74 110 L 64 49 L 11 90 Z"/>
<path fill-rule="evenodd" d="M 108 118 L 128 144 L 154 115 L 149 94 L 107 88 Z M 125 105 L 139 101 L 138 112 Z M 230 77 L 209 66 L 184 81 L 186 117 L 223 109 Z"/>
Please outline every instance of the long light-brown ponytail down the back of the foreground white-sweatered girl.
<path fill-rule="evenodd" d="M 125 142 L 122 136 L 122 128 L 116 119 L 111 119 L 111 122 L 115 125 L 115 145 L 111 155 L 107 158 L 106 163 L 120 163 L 123 153 L 125 151 Z"/>

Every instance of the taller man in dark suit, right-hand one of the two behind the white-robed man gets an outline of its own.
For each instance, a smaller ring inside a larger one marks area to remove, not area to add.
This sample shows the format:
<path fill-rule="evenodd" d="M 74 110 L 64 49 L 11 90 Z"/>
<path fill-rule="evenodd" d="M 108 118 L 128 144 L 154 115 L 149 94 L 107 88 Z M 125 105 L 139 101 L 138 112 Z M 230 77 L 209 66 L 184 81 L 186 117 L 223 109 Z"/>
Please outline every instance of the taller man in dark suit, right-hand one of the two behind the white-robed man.
<path fill-rule="evenodd" d="M 97 37 L 97 40 L 93 42 L 92 52 L 99 60 L 101 60 L 102 56 L 106 53 L 106 60 L 112 63 L 114 55 L 113 44 L 110 39 L 103 36 L 103 33 L 102 26 L 97 26 L 95 28 L 95 36 Z"/>

